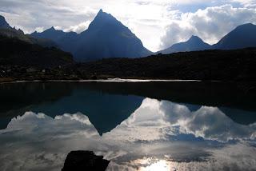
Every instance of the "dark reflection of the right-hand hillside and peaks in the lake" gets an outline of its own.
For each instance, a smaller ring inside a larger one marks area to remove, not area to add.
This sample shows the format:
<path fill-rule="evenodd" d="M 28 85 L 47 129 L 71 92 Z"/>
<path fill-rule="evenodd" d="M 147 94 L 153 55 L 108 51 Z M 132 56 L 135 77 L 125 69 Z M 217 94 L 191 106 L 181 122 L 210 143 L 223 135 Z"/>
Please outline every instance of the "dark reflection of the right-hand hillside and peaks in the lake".
<path fill-rule="evenodd" d="M 192 110 L 202 105 L 218 106 L 233 121 L 248 125 L 256 121 L 255 93 L 250 84 L 234 82 L 91 82 L 88 89 L 107 93 L 134 94 L 174 101 Z"/>

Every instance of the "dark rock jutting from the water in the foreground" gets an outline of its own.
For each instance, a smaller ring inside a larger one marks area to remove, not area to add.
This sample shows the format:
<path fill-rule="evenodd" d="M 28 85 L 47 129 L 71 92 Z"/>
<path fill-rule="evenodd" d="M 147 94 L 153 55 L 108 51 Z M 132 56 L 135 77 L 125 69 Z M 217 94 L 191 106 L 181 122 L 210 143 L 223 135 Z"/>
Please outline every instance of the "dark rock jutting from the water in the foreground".
<path fill-rule="evenodd" d="M 91 151 L 72 151 L 67 155 L 62 171 L 104 171 L 109 163 Z"/>

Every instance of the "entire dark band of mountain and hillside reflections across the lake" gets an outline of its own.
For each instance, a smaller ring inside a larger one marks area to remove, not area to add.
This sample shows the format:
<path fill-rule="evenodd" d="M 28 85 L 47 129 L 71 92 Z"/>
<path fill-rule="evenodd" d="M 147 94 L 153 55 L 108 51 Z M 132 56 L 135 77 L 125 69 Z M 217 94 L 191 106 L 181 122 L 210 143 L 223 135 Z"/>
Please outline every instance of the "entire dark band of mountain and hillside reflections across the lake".
<path fill-rule="evenodd" d="M 256 121 L 254 93 L 223 82 L 32 82 L 0 85 L 0 129 L 26 111 L 54 117 L 82 112 L 99 133 L 124 121 L 144 97 L 185 104 L 192 111 L 202 105 L 218 106 L 233 121 Z M 245 111 L 246 110 L 246 111 Z"/>

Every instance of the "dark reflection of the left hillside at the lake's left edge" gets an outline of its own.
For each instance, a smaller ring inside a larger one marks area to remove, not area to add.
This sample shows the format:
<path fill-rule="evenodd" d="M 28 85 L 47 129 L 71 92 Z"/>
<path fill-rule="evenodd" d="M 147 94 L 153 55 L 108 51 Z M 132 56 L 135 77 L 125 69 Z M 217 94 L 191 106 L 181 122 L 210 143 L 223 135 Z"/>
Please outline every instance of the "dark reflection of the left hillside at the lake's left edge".
<path fill-rule="evenodd" d="M 59 87 L 62 87 L 59 89 Z M 58 101 L 72 93 L 72 87 L 62 83 L 41 82 L 0 85 L 0 129 L 6 128 L 12 117 L 22 115 L 34 105 Z"/>

